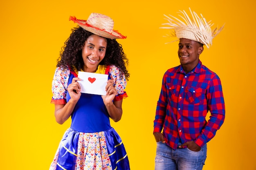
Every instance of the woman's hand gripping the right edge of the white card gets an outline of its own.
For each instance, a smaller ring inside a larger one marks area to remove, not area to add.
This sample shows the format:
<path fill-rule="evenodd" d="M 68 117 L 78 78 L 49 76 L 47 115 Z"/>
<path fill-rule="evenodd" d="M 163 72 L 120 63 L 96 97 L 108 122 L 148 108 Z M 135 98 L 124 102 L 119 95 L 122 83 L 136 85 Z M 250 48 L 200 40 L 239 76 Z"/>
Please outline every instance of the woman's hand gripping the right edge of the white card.
<path fill-rule="evenodd" d="M 112 103 L 115 96 L 117 95 L 117 90 L 114 87 L 114 80 L 109 79 L 106 85 L 106 95 L 101 95 L 105 105 Z"/>

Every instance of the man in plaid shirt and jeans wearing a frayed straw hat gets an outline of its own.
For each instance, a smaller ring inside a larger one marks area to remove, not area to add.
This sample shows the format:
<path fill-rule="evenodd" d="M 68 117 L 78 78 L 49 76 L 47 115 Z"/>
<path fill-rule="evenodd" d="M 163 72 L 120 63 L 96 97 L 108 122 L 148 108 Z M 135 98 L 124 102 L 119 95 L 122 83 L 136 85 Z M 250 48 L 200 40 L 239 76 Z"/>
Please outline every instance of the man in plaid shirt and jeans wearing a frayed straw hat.
<path fill-rule="evenodd" d="M 207 142 L 220 129 L 225 119 L 225 104 L 220 78 L 199 60 L 203 45 L 222 30 L 195 12 L 191 19 L 180 11 L 185 22 L 167 17 L 173 36 L 179 40 L 180 65 L 164 73 L 157 102 L 154 136 L 157 141 L 155 170 L 202 170 Z M 210 119 L 206 115 L 210 111 Z"/>

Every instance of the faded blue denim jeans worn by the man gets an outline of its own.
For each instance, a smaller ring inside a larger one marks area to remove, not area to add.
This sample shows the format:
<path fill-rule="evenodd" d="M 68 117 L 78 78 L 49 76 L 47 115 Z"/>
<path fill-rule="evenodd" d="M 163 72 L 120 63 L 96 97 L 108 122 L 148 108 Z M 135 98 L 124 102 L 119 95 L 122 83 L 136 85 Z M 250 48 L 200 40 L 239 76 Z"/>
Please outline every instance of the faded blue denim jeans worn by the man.
<path fill-rule="evenodd" d="M 178 146 L 181 144 L 179 143 Z M 206 159 L 207 144 L 200 151 L 188 148 L 172 149 L 162 141 L 157 142 L 155 170 L 202 170 Z"/>

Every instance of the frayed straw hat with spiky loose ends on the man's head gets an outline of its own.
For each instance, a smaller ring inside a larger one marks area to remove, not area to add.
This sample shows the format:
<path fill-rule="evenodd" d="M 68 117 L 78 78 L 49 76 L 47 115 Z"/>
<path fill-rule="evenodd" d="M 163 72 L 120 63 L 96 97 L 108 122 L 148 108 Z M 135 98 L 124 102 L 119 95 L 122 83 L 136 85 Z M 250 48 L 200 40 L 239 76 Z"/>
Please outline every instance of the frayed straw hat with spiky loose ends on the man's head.
<path fill-rule="evenodd" d="M 169 15 L 170 17 L 166 16 L 166 20 L 168 20 L 168 23 L 165 23 L 163 25 L 168 25 L 168 27 L 161 27 L 163 29 L 173 29 L 173 32 L 171 32 L 171 37 L 177 37 L 178 40 L 180 38 L 185 38 L 193 41 L 200 42 L 204 45 L 207 46 L 207 48 L 212 45 L 212 40 L 220 31 L 223 29 L 224 25 L 220 27 L 220 29 L 215 28 L 211 29 L 211 24 L 205 20 L 205 18 L 202 16 L 200 18 L 194 11 L 192 12 L 191 9 L 189 8 L 192 18 L 189 17 L 189 15 L 183 10 L 180 11 L 184 16 L 179 15 L 183 20 L 181 21 L 180 19 Z M 178 41 L 175 40 L 175 41 Z M 174 41 L 172 41 L 174 42 Z"/>

